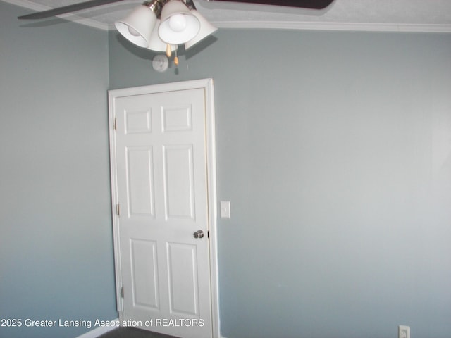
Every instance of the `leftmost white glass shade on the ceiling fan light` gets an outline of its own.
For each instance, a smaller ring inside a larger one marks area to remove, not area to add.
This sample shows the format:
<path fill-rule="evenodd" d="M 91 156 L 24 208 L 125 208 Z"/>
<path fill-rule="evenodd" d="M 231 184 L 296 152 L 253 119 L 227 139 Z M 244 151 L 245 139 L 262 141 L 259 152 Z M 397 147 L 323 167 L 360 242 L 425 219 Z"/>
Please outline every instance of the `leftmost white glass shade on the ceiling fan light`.
<path fill-rule="evenodd" d="M 116 29 L 130 42 L 147 48 L 150 35 L 154 30 L 156 15 L 147 6 L 138 6 L 123 20 L 116 21 Z"/>

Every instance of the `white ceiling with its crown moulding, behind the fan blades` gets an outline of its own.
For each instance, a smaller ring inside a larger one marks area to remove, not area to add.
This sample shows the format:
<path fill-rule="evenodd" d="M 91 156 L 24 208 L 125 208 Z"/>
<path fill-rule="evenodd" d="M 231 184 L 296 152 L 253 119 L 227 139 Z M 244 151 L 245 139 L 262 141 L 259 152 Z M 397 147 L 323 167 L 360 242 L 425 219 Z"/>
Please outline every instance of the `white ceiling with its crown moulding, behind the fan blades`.
<path fill-rule="evenodd" d="M 3 1 L 30 8 L 32 13 L 84 0 Z M 112 29 L 115 20 L 123 18 L 143 1 L 119 1 L 61 17 Z M 451 0 L 335 0 L 321 11 L 206 0 L 194 0 L 194 4 L 217 27 L 451 32 Z"/>

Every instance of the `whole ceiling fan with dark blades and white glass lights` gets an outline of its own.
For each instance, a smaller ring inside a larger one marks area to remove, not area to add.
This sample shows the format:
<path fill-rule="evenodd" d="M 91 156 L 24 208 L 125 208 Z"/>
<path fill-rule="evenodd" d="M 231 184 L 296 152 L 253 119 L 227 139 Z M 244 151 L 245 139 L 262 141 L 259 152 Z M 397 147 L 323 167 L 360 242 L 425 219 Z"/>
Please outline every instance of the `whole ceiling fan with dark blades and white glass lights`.
<path fill-rule="evenodd" d="M 43 19 L 81 11 L 123 0 L 89 0 L 19 16 L 19 19 Z M 323 9 L 334 0 L 206 0 L 231 1 L 235 3 L 290 6 L 297 8 Z M 166 51 L 168 57 L 175 51 L 174 63 L 178 65 L 177 49 L 185 44 L 189 49 L 197 42 L 217 30 L 194 6 L 193 0 L 149 0 L 137 6 L 122 20 L 115 23 L 116 29 L 130 42 L 152 51 Z"/>

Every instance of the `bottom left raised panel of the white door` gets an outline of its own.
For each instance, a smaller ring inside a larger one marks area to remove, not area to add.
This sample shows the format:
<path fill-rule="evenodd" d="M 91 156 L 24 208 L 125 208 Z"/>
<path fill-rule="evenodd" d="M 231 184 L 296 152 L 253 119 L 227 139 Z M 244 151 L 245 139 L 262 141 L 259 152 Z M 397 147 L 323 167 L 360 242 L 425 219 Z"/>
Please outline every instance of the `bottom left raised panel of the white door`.
<path fill-rule="evenodd" d="M 156 242 L 130 239 L 130 261 L 133 305 L 159 308 Z"/>

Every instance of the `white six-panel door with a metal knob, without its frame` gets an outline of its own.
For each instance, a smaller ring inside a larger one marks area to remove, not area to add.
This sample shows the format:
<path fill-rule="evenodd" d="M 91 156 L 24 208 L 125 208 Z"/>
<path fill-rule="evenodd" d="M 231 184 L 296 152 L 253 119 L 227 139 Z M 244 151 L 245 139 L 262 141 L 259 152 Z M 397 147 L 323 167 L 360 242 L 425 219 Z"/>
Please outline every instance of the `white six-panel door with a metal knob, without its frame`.
<path fill-rule="evenodd" d="M 121 320 L 212 337 L 204 89 L 115 97 Z"/>

